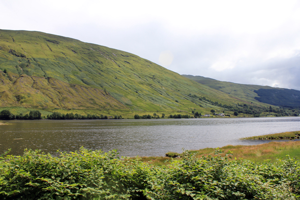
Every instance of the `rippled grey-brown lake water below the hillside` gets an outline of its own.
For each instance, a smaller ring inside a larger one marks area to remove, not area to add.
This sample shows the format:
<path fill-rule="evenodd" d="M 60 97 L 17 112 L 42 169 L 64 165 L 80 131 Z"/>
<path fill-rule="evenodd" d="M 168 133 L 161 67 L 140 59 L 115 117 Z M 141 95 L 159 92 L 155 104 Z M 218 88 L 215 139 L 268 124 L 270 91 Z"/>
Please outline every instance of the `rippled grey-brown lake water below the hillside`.
<path fill-rule="evenodd" d="M 254 145 L 265 140 L 242 137 L 300 130 L 300 117 L 160 120 L 9 121 L 0 126 L 0 153 L 25 148 L 46 153 L 76 151 L 81 146 L 117 149 L 122 156 L 163 156 L 168 151 L 226 145 Z"/>

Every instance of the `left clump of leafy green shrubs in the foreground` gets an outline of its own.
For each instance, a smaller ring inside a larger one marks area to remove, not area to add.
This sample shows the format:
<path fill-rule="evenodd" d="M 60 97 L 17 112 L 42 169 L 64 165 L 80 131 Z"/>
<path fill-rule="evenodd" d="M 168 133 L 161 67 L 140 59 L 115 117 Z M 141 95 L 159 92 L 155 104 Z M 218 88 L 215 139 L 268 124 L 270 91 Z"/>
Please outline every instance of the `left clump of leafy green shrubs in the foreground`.
<path fill-rule="evenodd" d="M 0 162 L 0 199 L 128 199 L 139 196 L 146 166 L 124 163 L 116 151 L 81 148 L 58 157 L 25 150 Z M 138 183 L 136 181 L 139 181 Z"/>

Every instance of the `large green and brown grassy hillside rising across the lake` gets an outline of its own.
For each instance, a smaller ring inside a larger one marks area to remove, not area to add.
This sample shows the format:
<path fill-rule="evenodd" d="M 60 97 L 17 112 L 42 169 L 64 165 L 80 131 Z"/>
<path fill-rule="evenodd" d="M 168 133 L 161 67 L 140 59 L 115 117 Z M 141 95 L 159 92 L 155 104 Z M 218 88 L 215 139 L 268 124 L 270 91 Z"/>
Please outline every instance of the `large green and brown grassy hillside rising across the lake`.
<path fill-rule="evenodd" d="M 137 55 L 41 32 L 0 30 L 0 106 L 209 112 L 241 102 Z"/>

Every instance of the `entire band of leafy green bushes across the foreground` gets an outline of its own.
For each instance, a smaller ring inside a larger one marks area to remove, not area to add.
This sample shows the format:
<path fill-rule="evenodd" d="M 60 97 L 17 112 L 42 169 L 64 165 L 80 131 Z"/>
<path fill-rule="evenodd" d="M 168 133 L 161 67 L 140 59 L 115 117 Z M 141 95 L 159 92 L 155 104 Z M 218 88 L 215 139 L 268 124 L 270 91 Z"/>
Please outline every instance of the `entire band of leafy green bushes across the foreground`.
<path fill-rule="evenodd" d="M 53 157 L 39 151 L 0 157 L 0 199 L 296 199 L 300 164 L 196 158 L 167 166 L 81 148 Z M 229 152 L 230 154 L 230 152 Z"/>

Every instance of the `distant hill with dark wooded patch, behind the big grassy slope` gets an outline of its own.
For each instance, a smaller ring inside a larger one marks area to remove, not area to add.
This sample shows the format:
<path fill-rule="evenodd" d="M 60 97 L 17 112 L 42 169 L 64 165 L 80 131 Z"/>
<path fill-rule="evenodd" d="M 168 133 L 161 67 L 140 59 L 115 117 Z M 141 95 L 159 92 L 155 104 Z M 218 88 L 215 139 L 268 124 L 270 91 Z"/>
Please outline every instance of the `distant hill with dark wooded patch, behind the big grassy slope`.
<path fill-rule="evenodd" d="M 233 82 L 219 81 L 203 76 L 183 75 L 196 82 L 207 85 L 210 88 L 230 94 L 239 99 L 275 106 L 300 106 L 300 91 L 282 88 L 272 88 L 261 85 L 238 84 Z"/>

